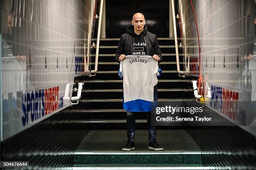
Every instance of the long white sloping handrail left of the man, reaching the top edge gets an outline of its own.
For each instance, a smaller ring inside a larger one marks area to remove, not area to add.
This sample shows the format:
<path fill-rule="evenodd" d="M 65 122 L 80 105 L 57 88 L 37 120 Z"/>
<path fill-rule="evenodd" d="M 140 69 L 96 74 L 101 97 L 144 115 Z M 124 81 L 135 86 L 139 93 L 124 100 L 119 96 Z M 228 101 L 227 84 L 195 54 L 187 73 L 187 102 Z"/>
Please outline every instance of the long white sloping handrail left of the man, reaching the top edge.
<path fill-rule="evenodd" d="M 101 29 L 101 20 L 102 20 L 103 1 L 104 0 L 100 0 L 100 17 L 99 17 L 98 32 L 97 32 L 95 68 L 94 68 L 94 70 L 91 71 L 91 73 L 96 73 L 98 70 L 98 58 L 99 58 L 99 47 L 100 47 L 100 29 Z"/>

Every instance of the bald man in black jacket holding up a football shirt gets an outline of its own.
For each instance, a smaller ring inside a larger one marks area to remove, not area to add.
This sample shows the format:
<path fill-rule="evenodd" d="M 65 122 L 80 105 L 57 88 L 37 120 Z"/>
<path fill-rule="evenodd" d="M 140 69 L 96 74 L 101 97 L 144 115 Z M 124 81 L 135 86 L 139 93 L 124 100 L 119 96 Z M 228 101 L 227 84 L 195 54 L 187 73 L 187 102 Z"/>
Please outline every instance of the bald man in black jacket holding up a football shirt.
<path fill-rule="evenodd" d="M 159 43 L 156 34 L 153 34 L 147 30 L 146 20 L 142 13 L 136 13 L 133 15 L 130 26 L 126 28 L 118 43 L 118 49 L 115 54 L 115 60 L 125 60 L 127 55 L 136 56 L 152 56 L 159 63 L 162 61 L 162 55 L 159 48 Z M 140 49 L 134 50 L 134 49 Z M 151 126 L 151 112 L 147 112 L 147 124 L 148 124 L 148 149 L 151 150 L 163 150 L 163 147 L 159 146 L 156 142 L 156 127 Z M 127 137 L 128 141 L 124 151 L 135 149 L 135 115 L 134 112 L 127 112 Z"/>

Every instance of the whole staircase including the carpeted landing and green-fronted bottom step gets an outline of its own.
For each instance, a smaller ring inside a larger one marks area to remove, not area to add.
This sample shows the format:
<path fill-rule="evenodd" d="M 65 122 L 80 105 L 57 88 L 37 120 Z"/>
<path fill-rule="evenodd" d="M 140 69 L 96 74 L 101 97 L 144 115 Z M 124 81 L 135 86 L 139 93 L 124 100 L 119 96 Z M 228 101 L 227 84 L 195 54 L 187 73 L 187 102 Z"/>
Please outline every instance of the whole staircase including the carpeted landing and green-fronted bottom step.
<path fill-rule="evenodd" d="M 75 152 L 74 168 L 98 167 L 137 167 L 158 169 L 185 168 L 200 169 L 201 152 L 192 138 L 184 131 L 174 127 L 164 127 L 157 131 L 157 140 L 164 151 L 148 150 L 148 131 L 146 115 L 136 113 L 136 150 L 123 152 L 121 148 L 127 141 L 126 111 L 123 110 L 123 81 L 118 79 L 119 63 L 115 62 L 119 38 L 101 39 L 98 72 L 96 76 L 84 81 L 85 86 L 79 103 L 85 108 L 72 109 L 86 115 L 90 133 L 84 138 Z M 177 74 L 174 39 L 159 38 L 163 55 L 158 81 L 159 101 L 179 101 L 192 98 L 192 86 L 189 80 Z M 181 49 L 180 53 L 181 53 Z M 182 65 L 182 56 L 179 56 Z M 92 59 L 92 68 L 94 61 Z M 179 138 L 177 138 L 179 136 Z"/>

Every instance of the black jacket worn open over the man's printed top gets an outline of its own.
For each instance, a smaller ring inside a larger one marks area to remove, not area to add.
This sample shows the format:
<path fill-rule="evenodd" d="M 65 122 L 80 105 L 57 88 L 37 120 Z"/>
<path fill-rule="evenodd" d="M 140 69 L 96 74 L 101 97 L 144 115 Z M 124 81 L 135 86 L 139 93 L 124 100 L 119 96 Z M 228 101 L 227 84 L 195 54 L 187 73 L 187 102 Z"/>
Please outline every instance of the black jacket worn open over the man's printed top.
<path fill-rule="evenodd" d="M 161 60 L 159 63 L 162 61 L 162 55 L 161 51 L 159 48 L 159 43 L 156 37 L 156 34 L 153 34 L 149 31 L 147 31 L 147 26 L 144 25 L 143 31 L 137 35 L 134 33 L 134 26 L 130 25 L 126 28 L 126 33 L 122 34 L 119 43 L 118 43 L 118 49 L 115 53 L 115 61 L 120 63 L 118 61 L 118 58 L 121 54 L 124 54 L 125 56 L 132 55 L 133 51 L 133 42 L 137 36 L 141 36 L 142 38 L 145 38 L 146 45 L 147 45 L 147 55 L 148 56 L 154 56 L 154 54 L 157 54 Z"/>

